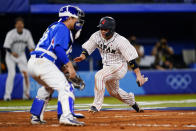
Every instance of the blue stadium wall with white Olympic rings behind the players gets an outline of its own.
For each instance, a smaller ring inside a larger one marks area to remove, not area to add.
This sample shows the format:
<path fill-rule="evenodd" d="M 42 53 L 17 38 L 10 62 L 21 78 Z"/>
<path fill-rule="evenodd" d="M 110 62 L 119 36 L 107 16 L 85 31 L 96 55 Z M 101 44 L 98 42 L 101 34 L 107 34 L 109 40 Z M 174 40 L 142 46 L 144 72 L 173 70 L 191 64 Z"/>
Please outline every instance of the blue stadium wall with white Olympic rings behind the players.
<path fill-rule="evenodd" d="M 86 83 L 83 91 L 75 90 L 76 97 L 92 97 L 94 96 L 94 75 L 96 72 L 80 71 L 78 74 Z M 149 81 L 143 86 L 138 87 L 136 77 L 133 72 L 128 72 L 126 76 L 120 80 L 120 87 L 127 92 L 134 92 L 135 95 L 149 94 L 189 94 L 196 93 L 196 70 L 172 70 L 172 71 L 155 71 L 143 70 L 142 74 L 149 78 Z M 0 99 L 3 99 L 5 91 L 5 82 L 7 74 L 0 75 Z M 40 85 L 30 78 L 31 89 L 30 96 L 34 98 Z M 17 74 L 14 80 L 14 89 L 12 93 L 13 99 L 22 98 L 22 76 Z M 109 93 L 105 92 L 106 96 Z M 57 92 L 53 94 L 57 97 Z"/>

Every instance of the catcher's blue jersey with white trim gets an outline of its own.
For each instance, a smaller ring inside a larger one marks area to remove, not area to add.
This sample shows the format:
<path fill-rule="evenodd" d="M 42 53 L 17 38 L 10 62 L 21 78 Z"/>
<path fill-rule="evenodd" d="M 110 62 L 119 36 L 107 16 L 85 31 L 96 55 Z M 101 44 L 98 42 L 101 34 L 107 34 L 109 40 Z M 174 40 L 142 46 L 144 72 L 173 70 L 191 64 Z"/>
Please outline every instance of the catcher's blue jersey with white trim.
<path fill-rule="evenodd" d="M 56 46 L 61 46 L 65 50 L 65 52 L 67 52 L 71 48 L 70 43 L 71 43 L 70 30 L 66 27 L 64 23 L 55 22 L 47 28 L 42 38 L 39 40 L 39 43 L 37 44 L 35 51 L 33 51 L 31 54 L 36 54 L 36 55 L 54 54 L 55 55 L 54 49 Z M 66 53 L 66 55 L 69 54 Z M 60 67 L 62 64 L 58 60 L 58 57 L 55 58 L 55 64 L 57 65 L 57 67 Z"/>

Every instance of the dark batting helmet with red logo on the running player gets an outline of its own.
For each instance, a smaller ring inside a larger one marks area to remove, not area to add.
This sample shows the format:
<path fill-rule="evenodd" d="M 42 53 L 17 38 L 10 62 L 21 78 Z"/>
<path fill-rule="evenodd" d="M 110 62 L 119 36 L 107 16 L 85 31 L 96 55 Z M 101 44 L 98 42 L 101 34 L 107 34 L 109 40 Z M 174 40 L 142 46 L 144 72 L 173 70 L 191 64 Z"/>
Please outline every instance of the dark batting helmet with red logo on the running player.
<path fill-rule="evenodd" d="M 97 26 L 100 29 L 108 29 L 109 32 L 106 33 L 106 37 L 111 36 L 114 34 L 115 28 L 116 28 L 116 22 L 114 20 L 114 18 L 109 17 L 109 16 L 105 16 L 103 18 L 101 18 L 99 25 Z"/>

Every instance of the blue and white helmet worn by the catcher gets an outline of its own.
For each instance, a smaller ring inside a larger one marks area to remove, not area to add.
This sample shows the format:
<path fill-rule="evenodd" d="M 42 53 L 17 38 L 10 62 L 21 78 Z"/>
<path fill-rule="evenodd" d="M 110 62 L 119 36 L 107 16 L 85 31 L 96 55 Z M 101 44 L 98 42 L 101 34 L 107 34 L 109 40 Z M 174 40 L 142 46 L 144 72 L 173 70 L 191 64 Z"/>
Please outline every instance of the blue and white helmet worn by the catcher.
<path fill-rule="evenodd" d="M 59 10 L 59 17 L 61 22 L 66 21 L 69 17 L 74 17 L 78 19 L 78 22 L 75 24 L 75 29 L 79 30 L 82 28 L 83 24 L 84 24 L 84 20 L 82 20 L 82 18 L 84 17 L 84 12 L 76 6 L 72 6 L 72 5 L 67 5 L 67 6 L 63 6 L 60 10 Z"/>

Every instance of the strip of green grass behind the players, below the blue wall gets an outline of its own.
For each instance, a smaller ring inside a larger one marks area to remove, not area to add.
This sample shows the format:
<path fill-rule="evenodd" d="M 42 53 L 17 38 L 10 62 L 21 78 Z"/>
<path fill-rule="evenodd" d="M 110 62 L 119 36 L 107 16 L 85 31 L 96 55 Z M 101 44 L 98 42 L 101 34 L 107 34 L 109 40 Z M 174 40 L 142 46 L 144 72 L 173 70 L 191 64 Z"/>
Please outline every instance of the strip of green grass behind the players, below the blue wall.
<path fill-rule="evenodd" d="M 75 104 L 91 104 L 94 98 L 76 98 Z M 196 100 L 196 94 L 180 94 L 180 95 L 146 95 L 136 96 L 138 102 L 152 102 L 152 101 L 179 101 L 179 100 Z M 31 106 L 33 100 L 12 100 L 12 101 L 0 101 L 0 107 L 13 107 L 13 106 Z M 123 104 L 121 101 L 114 97 L 105 97 L 105 104 Z M 52 99 L 49 105 L 56 105 L 57 99 Z M 127 107 L 122 105 L 122 107 Z M 163 103 L 156 105 L 144 105 L 142 107 L 196 107 L 196 103 Z M 104 107 L 103 107 L 104 108 Z M 110 107 L 107 107 L 110 108 Z M 111 107 L 112 108 L 112 107 Z M 115 107 L 117 108 L 117 107 Z M 119 107 L 118 107 L 119 108 Z M 80 108 L 82 109 L 82 108 Z M 1 109 L 2 111 L 3 109 Z M 5 109 L 4 109 L 5 110 Z"/>

